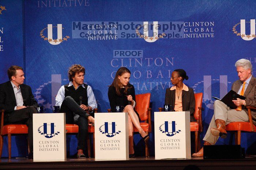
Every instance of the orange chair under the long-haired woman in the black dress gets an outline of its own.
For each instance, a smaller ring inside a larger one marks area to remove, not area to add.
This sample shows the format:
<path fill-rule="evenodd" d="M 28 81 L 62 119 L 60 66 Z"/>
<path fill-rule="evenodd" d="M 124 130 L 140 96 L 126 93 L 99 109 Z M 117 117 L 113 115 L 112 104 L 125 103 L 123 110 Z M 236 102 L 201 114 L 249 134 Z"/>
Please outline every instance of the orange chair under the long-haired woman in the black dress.
<path fill-rule="evenodd" d="M 147 135 L 148 132 L 151 132 L 151 108 L 149 108 L 150 96 L 150 93 L 135 95 L 135 110 L 139 113 L 140 120 L 143 121 L 140 122 L 140 126 L 146 132 Z M 111 112 L 111 109 L 107 110 L 108 112 Z M 135 126 L 133 126 L 133 132 L 139 132 Z M 149 157 L 148 143 L 145 144 L 145 155 L 146 157 Z"/>

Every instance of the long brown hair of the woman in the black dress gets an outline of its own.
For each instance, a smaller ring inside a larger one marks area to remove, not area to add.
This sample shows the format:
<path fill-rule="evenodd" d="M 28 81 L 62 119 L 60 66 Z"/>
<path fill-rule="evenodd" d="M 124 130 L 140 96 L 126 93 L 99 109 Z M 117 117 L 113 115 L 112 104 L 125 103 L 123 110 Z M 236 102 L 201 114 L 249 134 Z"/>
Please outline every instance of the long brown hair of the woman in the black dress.
<path fill-rule="evenodd" d="M 116 89 L 116 94 L 117 94 L 118 96 L 121 95 L 120 89 L 121 89 L 122 86 L 123 86 L 123 85 L 121 84 L 121 82 L 120 82 L 118 76 L 122 76 L 124 73 L 129 73 L 129 74 L 131 74 L 130 70 L 127 69 L 126 67 L 120 67 L 120 68 L 117 70 L 117 72 L 116 72 L 116 76 L 115 76 L 115 78 L 114 78 L 114 81 L 113 81 L 112 84 L 110 85 L 110 86 L 114 86 L 114 88 Z M 124 93 L 125 93 L 125 94 L 127 94 L 127 90 L 128 90 L 129 88 L 132 88 L 132 87 L 129 86 L 129 85 L 130 85 L 130 83 L 128 83 L 127 86 L 125 86 L 125 89 L 124 89 Z"/>

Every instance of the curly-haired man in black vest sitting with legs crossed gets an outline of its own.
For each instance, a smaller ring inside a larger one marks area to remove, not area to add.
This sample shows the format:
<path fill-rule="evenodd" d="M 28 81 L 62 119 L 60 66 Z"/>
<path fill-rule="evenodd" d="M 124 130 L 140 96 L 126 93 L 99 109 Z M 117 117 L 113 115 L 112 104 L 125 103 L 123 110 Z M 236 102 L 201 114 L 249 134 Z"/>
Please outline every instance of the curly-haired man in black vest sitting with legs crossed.
<path fill-rule="evenodd" d="M 83 154 L 88 134 L 88 120 L 94 123 L 90 116 L 97 103 L 91 86 L 83 83 L 85 69 L 81 65 L 72 65 L 68 70 L 69 84 L 61 86 L 57 96 L 56 105 L 60 112 L 66 113 L 67 124 L 77 124 L 78 130 L 78 158 L 86 158 Z"/>

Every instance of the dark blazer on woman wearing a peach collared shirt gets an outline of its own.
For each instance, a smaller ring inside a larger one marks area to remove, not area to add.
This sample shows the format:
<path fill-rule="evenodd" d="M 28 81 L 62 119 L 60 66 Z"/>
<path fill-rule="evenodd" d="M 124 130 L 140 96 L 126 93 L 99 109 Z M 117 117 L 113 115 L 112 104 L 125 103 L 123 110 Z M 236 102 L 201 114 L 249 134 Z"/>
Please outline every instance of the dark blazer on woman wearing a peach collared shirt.
<path fill-rule="evenodd" d="M 165 104 L 175 106 L 175 93 L 176 90 L 166 89 Z M 182 90 L 182 111 L 190 112 L 190 121 L 196 121 L 194 117 L 195 112 L 195 94 L 192 88 L 188 87 L 188 91 Z"/>

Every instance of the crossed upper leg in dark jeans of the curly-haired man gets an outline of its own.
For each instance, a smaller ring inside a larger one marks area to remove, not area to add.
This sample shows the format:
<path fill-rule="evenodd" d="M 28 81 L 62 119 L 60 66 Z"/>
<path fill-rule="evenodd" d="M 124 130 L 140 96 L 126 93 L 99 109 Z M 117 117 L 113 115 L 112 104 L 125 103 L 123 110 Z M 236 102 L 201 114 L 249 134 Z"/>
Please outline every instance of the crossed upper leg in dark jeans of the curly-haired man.
<path fill-rule="evenodd" d="M 89 114 L 84 111 L 82 108 L 80 108 L 80 106 L 75 102 L 75 100 L 70 97 L 67 96 L 64 98 L 61 107 L 60 107 L 60 112 L 65 112 L 66 113 L 66 123 L 72 123 L 74 122 L 74 114 L 76 113 L 79 116 L 83 116 L 83 117 L 88 117 Z"/>

